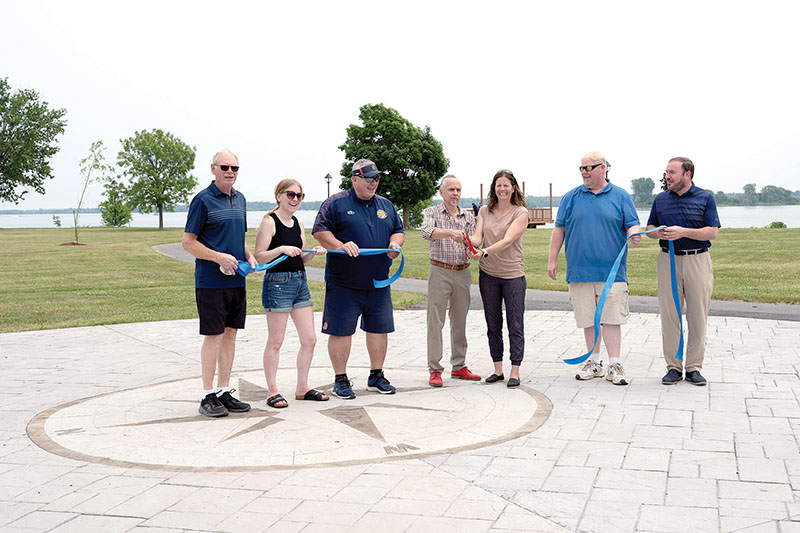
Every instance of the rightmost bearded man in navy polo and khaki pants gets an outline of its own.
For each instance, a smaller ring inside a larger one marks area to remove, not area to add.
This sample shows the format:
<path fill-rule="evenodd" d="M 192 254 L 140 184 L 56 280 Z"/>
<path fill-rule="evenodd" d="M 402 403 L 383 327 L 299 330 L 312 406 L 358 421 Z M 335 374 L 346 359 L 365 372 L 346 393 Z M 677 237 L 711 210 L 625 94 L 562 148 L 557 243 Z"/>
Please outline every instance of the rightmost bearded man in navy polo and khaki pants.
<path fill-rule="evenodd" d="M 686 313 L 686 381 L 705 385 L 700 374 L 706 353 L 706 326 L 711 293 L 714 290 L 714 269 L 711 241 L 717 238 L 720 223 L 714 196 L 692 183 L 694 163 L 688 157 L 673 157 L 662 178 L 664 192 L 659 193 L 650 209 L 647 229 L 666 226 L 648 233 L 659 239 L 658 306 L 661 316 L 661 345 L 667 362 L 664 385 L 683 379 L 683 363 L 675 355 L 680 345 L 681 324 L 672 295 L 669 265 L 669 242 L 674 241 L 675 275 L 681 309 Z"/>

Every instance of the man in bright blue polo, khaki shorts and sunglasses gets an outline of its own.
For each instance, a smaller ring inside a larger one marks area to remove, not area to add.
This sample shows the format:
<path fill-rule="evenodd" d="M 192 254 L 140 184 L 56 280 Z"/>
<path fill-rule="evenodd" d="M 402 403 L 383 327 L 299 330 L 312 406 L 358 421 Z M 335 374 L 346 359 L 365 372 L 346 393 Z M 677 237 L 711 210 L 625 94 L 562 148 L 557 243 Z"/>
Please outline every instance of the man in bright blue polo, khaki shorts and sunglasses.
<path fill-rule="evenodd" d="M 589 359 L 575 379 L 606 379 L 614 385 L 627 385 L 628 378 L 620 363 L 622 328 L 628 320 L 627 251 L 622 258 L 611 291 L 606 297 L 600 317 L 600 332 L 594 342 L 594 313 L 606 278 L 628 236 L 640 231 L 639 217 L 633 199 L 624 189 L 608 181 L 608 163 L 603 154 L 590 152 L 581 158 L 583 185 L 561 198 L 555 228 L 550 238 L 547 273 L 556 279 L 558 253 L 566 241 L 567 283 L 569 298 L 575 311 L 575 323 L 583 328 Z M 639 244 L 641 236 L 631 238 Z M 608 371 L 600 361 L 600 343 L 608 352 Z"/>

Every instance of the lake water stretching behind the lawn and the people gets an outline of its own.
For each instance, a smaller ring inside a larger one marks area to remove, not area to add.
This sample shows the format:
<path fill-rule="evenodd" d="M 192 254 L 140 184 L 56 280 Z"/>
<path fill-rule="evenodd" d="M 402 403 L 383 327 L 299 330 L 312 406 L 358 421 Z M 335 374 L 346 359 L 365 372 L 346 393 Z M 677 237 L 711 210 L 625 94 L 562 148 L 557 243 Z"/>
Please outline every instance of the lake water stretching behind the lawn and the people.
<path fill-rule="evenodd" d="M 720 222 L 723 228 L 750 228 L 764 227 L 771 222 L 781 221 L 790 228 L 800 228 L 800 205 L 780 205 L 780 206 L 730 206 L 718 207 Z M 554 208 L 553 211 L 558 211 Z M 639 220 L 642 225 L 647 223 L 650 210 L 638 210 Z M 252 211 L 247 213 L 247 226 L 255 229 L 261 223 L 261 217 L 266 211 Z M 61 226 L 64 228 L 72 227 L 72 215 L 63 213 L 58 215 L 61 218 Z M 298 211 L 297 217 L 303 221 L 307 228 L 314 224 L 316 211 Z M 555 213 L 553 215 L 555 218 Z M 167 228 L 182 228 L 186 223 L 186 213 L 164 213 L 164 226 Z M 102 226 L 100 213 L 83 213 L 80 218 L 81 226 Z M 141 213 L 133 214 L 131 226 L 136 228 L 157 228 L 158 215 Z M 52 228 L 53 215 L 48 213 L 32 213 L 22 215 L 3 215 L 0 214 L 0 228 Z M 545 227 L 552 227 L 548 224 Z"/>

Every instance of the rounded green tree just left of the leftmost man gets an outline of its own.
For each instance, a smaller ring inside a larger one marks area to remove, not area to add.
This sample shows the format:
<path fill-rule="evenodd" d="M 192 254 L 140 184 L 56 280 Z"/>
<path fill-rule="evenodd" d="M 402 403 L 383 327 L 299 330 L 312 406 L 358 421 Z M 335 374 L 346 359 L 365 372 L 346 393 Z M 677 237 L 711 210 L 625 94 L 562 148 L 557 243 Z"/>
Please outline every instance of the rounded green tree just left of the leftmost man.
<path fill-rule="evenodd" d="M 164 229 L 164 211 L 188 202 L 197 186 L 190 174 L 197 149 L 159 129 L 137 131 L 120 142 L 117 164 L 131 179 L 128 205 L 142 213 L 158 211 L 158 229 Z"/>

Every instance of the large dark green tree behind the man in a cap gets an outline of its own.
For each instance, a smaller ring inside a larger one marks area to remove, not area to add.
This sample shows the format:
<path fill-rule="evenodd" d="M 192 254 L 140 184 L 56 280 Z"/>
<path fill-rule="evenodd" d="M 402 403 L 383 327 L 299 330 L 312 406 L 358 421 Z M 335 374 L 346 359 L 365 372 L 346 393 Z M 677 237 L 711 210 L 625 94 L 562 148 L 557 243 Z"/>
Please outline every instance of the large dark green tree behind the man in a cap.
<path fill-rule="evenodd" d="M 341 189 L 352 186 L 352 166 L 358 159 L 371 159 L 386 172 L 380 194 L 403 211 L 403 225 L 409 227 L 412 207 L 436 193 L 439 179 L 450 161 L 442 143 L 431 135 L 430 127 L 418 128 L 383 104 L 361 106 L 362 126 L 347 127 L 347 139 L 339 146 L 345 154 Z"/>

